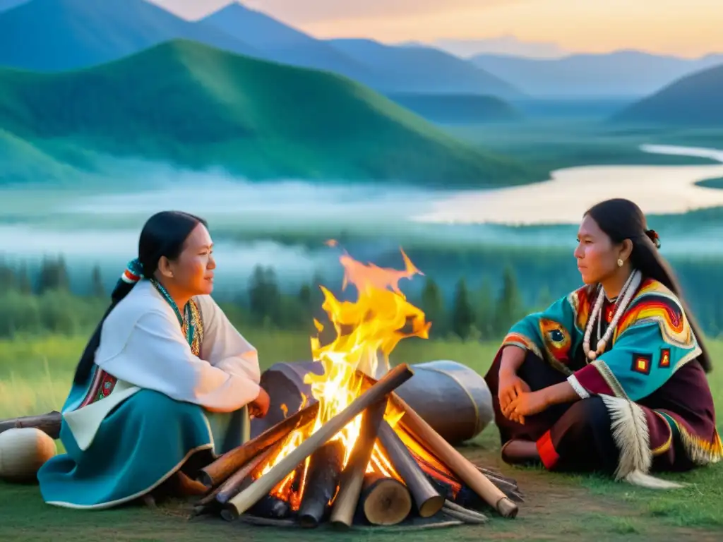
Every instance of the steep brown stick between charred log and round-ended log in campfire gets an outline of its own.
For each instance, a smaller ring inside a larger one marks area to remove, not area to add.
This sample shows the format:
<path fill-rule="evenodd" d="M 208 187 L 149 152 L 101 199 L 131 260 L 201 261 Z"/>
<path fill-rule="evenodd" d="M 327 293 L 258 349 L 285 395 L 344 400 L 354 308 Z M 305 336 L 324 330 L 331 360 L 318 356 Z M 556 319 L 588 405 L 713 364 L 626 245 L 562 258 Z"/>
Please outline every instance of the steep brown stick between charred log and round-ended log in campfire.
<path fill-rule="evenodd" d="M 341 473 L 339 492 L 334 499 L 330 520 L 335 526 L 346 525 L 351 527 L 354 522 L 354 512 L 359 503 L 361 486 L 364 483 L 364 473 L 372 458 L 374 445 L 377 442 L 377 431 L 384 419 L 384 412 L 388 400 L 385 398 L 364 411 L 361 420 L 359 437 L 354 443 L 346 468 Z M 411 501 L 410 501 L 411 502 Z"/>

